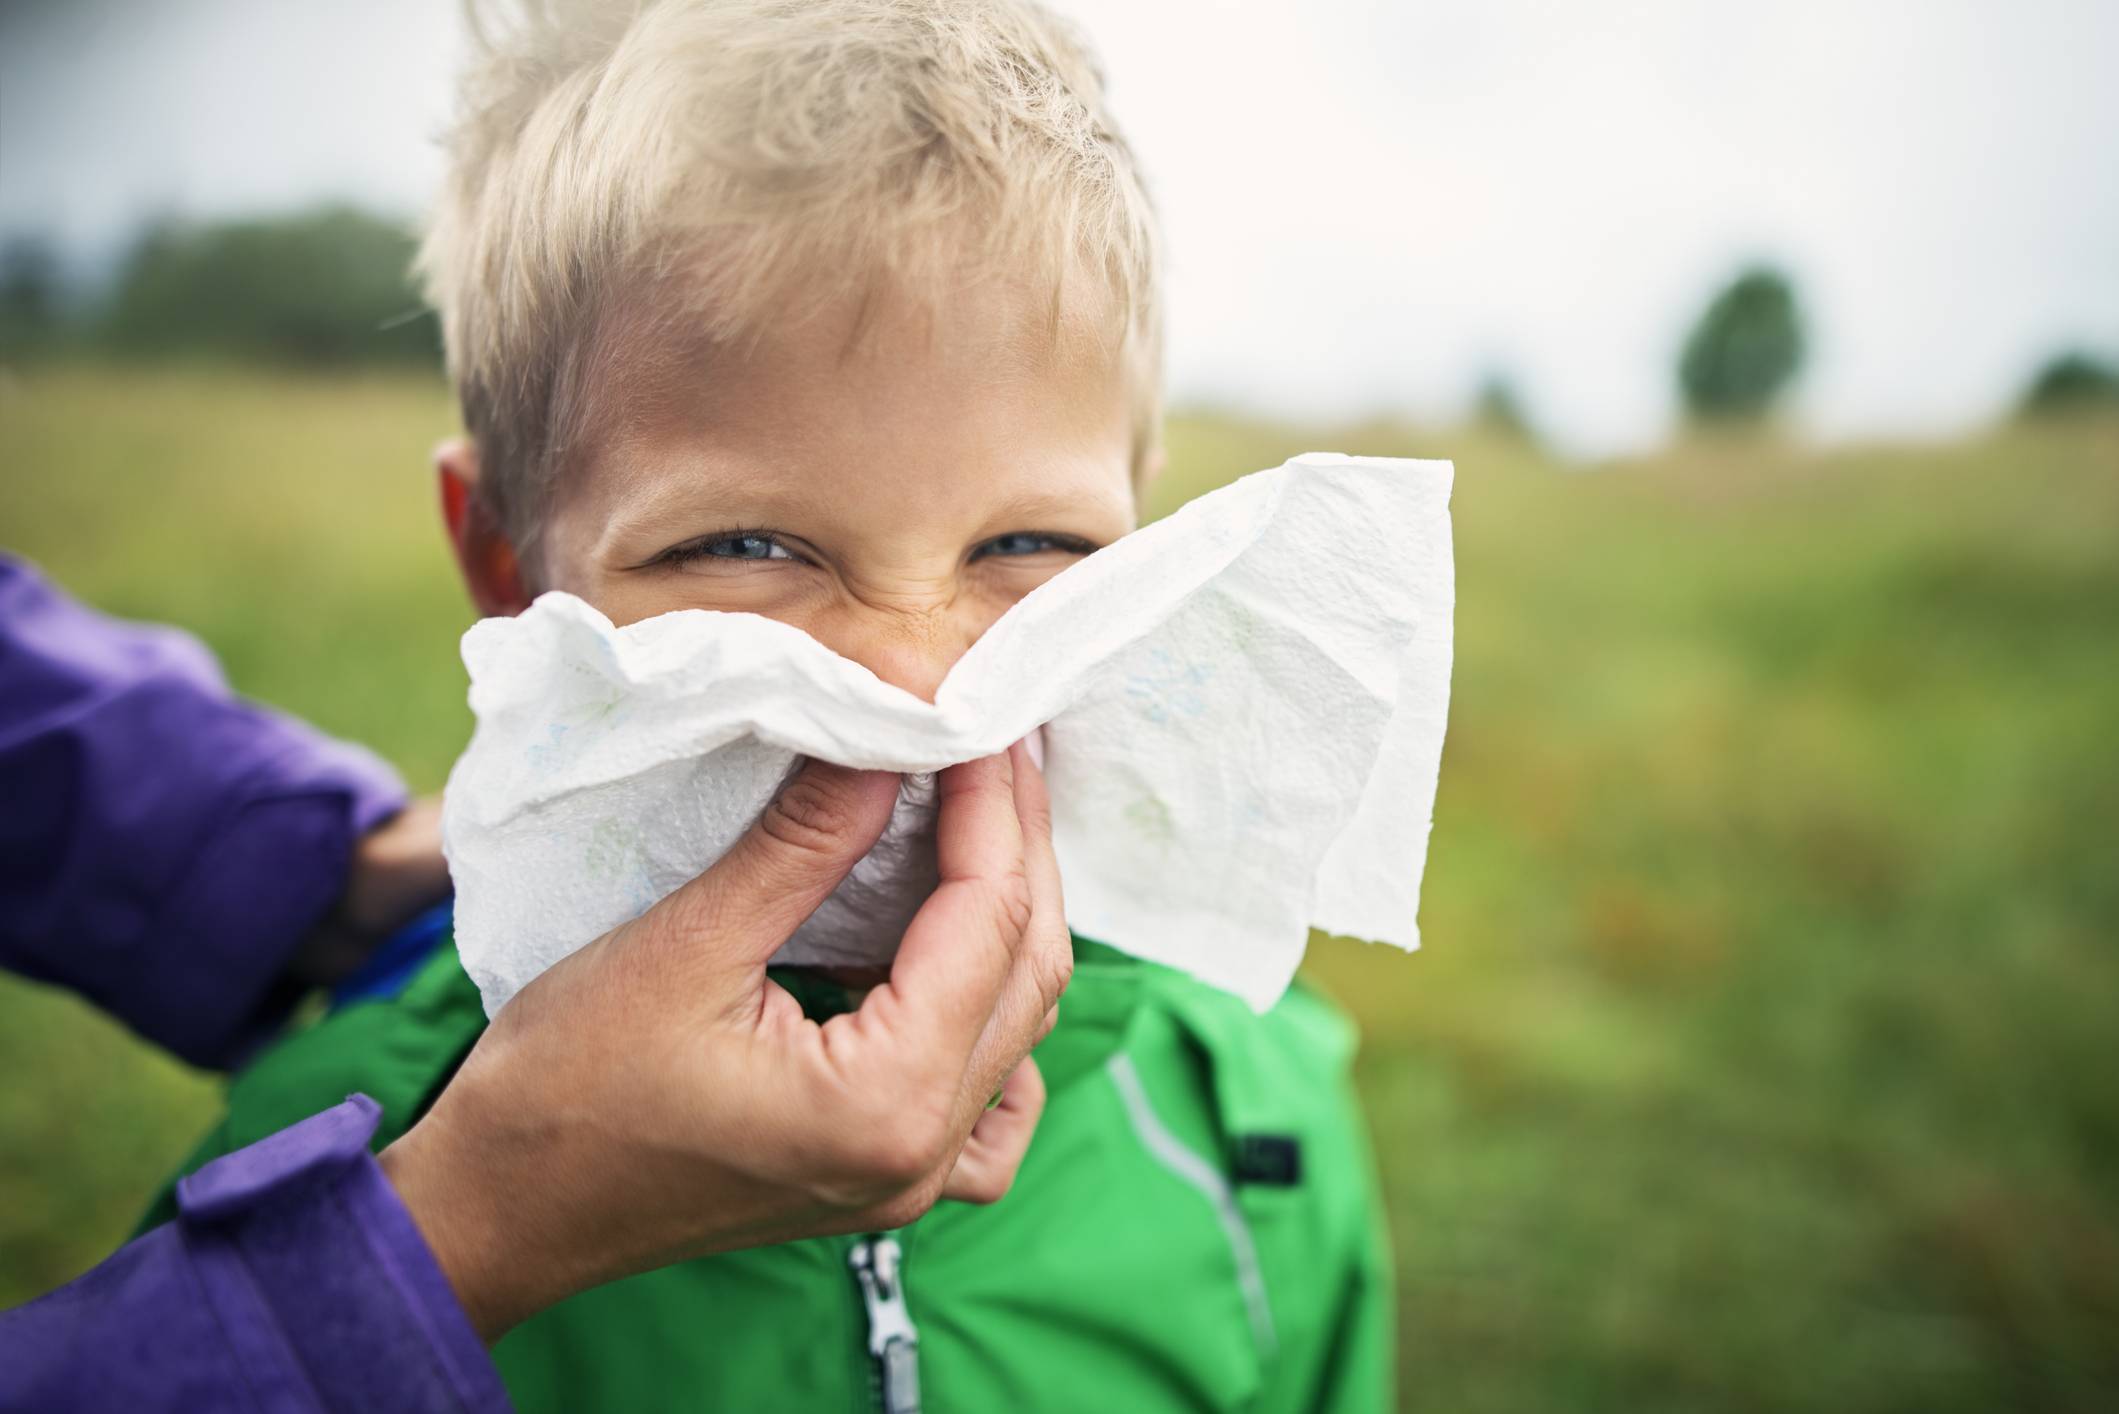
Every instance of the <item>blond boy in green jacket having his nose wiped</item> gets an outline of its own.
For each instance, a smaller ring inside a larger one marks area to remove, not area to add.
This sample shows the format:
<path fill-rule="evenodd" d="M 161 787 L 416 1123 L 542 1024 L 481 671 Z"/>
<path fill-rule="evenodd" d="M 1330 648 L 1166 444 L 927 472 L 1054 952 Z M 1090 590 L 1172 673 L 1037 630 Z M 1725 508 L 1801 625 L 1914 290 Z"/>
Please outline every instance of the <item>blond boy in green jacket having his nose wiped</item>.
<path fill-rule="evenodd" d="M 795 623 L 930 697 L 1134 528 L 1157 257 L 1098 72 L 1028 0 L 536 4 L 477 23 L 424 252 L 473 600 Z M 812 1011 L 843 1005 L 788 975 Z M 195 1162 L 364 1090 L 403 1132 L 483 1026 L 441 950 L 235 1081 Z M 1013 1191 L 578 1295 L 526 1410 L 1375 1410 L 1390 1276 L 1350 1030 L 1076 941 Z M 922 1406 L 924 1401 L 924 1406 Z"/>

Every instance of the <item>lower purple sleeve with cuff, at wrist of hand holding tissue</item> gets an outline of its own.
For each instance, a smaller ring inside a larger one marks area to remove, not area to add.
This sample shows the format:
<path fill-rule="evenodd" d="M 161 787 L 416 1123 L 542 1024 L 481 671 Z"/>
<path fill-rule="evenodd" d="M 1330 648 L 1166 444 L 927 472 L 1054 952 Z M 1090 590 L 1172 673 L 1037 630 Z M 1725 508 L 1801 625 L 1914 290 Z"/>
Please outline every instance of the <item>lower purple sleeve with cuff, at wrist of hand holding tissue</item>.
<path fill-rule="evenodd" d="M 352 1096 L 214 1160 L 174 1223 L 0 1312 L 0 1410 L 506 1410 L 377 1115 Z"/>

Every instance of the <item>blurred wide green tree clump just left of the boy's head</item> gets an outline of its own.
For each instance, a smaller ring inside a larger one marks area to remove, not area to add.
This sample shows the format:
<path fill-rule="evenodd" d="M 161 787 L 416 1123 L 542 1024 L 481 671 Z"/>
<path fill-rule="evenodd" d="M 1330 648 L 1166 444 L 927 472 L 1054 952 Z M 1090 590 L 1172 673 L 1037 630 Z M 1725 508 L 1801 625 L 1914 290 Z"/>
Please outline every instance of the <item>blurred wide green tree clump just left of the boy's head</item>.
<path fill-rule="evenodd" d="M 411 284 L 411 233 L 345 206 L 157 223 L 119 273 L 102 333 L 136 354 L 432 365 L 441 339 Z"/>

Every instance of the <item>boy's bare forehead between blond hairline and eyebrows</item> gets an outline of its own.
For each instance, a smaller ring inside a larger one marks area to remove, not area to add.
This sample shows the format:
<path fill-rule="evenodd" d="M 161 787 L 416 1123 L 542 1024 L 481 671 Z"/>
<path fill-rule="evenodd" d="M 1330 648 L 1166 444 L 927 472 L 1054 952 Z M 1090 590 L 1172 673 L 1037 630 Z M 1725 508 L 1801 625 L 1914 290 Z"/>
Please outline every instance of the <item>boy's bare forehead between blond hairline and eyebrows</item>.
<path fill-rule="evenodd" d="M 1129 505 L 1129 388 L 1087 295 L 1055 301 L 998 280 L 947 299 L 877 288 L 735 339 L 706 339 L 667 307 L 619 316 L 559 505 L 655 515 L 701 481 L 737 500 L 829 500 L 841 477 L 890 488 L 907 509 L 966 483 Z"/>

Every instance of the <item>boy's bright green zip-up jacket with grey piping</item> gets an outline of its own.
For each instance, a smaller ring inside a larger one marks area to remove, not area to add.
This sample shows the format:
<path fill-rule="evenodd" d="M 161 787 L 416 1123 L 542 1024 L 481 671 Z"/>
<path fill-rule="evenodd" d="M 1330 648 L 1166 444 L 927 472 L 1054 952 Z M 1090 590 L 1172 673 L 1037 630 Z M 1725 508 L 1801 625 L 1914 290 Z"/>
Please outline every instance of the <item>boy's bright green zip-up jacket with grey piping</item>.
<path fill-rule="evenodd" d="M 1259 1018 L 1081 939 L 1060 1018 L 1036 1051 L 1045 1119 L 1002 1202 L 585 1291 L 494 1346 L 517 1406 L 1388 1408 L 1390 1261 L 1348 1083 L 1352 1026 L 1301 986 Z M 384 1109 L 379 1147 L 483 1026 L 445 945 L 396 996 L 265 1051 L 184 1168 L 356 1090 Z"/>

